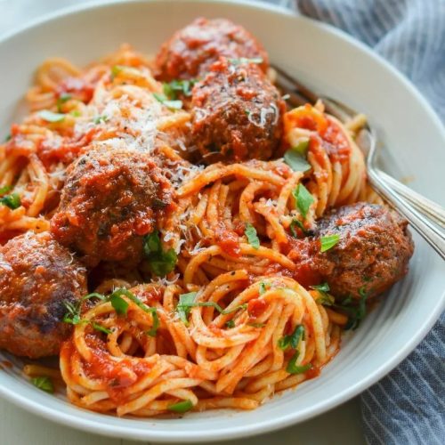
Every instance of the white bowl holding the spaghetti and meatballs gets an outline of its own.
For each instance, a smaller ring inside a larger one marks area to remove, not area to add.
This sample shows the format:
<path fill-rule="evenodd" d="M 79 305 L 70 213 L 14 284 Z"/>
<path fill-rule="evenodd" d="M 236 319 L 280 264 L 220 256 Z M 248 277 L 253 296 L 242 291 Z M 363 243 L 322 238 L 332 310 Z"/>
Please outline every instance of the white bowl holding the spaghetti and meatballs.
<path fill-rule="evenodd" d="M 128 42 L 154 53 L 167 36 L 197 16 L 227 17 L 258 36 L 271 61 L 365 112 L 388 150 L 385 168 L 443 202 L 445 132 L 417 90 L 376 54 L 334 28 L 282 9 L 248 2 L 126 1 L 74 7 L 0 41 L 0 130 L 16 114 L 33 70 L 59 55 L 86 64 Z M 38 415 L 89 432 L 149 441 L 212 441 L 265 433 L 301 422 L 351 399 L 394 368 L 426 335 L 445 306 L 445 264 L 415 236 L 406 279 L 352 335 L 321 376 L 247 412 L 209 411 L 182 419 L 104 416 L 39 391 L 20 375 L 21 362 L 0 371 L 0 394 Z M 0 361 L 1 362 L 1 361 Z"/>

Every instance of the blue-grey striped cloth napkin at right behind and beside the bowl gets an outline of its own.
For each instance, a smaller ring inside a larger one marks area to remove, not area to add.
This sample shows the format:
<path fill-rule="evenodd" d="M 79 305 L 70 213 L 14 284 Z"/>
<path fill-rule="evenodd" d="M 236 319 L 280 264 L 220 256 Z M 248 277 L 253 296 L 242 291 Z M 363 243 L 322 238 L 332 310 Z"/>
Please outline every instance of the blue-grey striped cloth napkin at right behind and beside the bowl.
<path fill-rule="evenodd" d="M 269 0 L 360 39 L 400 69 L 445 122 L 445 0 Z M 445 313 L 388 376 L 361 394 L 369 444 L 445 444 Z"/>

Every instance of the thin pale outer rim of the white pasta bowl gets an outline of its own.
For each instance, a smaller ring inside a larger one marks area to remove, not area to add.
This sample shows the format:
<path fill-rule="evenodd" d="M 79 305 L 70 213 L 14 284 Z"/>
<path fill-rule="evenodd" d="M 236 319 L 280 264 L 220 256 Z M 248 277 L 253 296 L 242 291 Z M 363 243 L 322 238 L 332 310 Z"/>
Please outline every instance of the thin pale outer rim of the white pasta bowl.
<path fill-rule="evenodd" d="M 44 15 L 37 17 L 34 20 L 29 20 L 24 25 L 18 28 L 13 28 L 4 34 L 0 34 L 0 45 L 5 44 L 8 40 L 11 40 L 15 36 L 25 34 L 27 31 L 33 28 L 40 28 L 45 23 L 58 20 L 62 17 L 67 17 L 73 13 L 77 12 L 87 12 L 90 10 L 99 10 L 101 8 L 106 8 L 108 6 L 113 6 L 116 4 L 159 4 L 159 3 L 178 3 L 181 0 L 93 0 L 92 2 L 86 4 L 72 4 L 68 7 L 61 8 L 56 12 L 45 13 Z M 185 0 L 187 1 L 187 0 Z M 208 0 L 189 0 L 192 3 L 208 3 Z M 361 43 L 354 37 L 346 34 L 343 30 L 335 28 L 327 23 L 320 22 L 318 20 L 313 20 L 311 18 L 305 17 L 298 12 L 293 12 L 284 6 L 278 4 L 267 4 L 259 0 L 212 0 L 214 4 L 231 4 L 231 6 L 236 7 L 240 5 L 242 7 L 247 7 L 252 10 L 265 10 L 271 13 L 276 13 L 282 16 L 292 16 L 298 17 L 298 20 L 308 21 L 312 23 L 312 26 L 316 26 L 328 32 L 328 34 L 335 35 L 336 37 L 344 40 L 347 44 L 355 46 L 360 52 L 365 53 L 367 57 L 373 59 L 379 65 L 383 66 L 391 72 L 393 77 L 397 77 L 397 80 L 403 84 L 410 93 L 412 93 L 418 103 L 423 107 L 425 114 L 433 121 L 433 124 L 438 127 L 441 137 L 445 142 L 445 127 L 442 125 L 440 117 L 433 110 L 432 106 L 425 97 L 419 93 L 417 87 L 413 85 L 405 75 L 401 73 L 398 69 L 394 68 L 388 61 L 385 61 L 383 57 L 375 53 L 366 44 Z M 184 2 L 185 3 L 185 2 Z M 365 391 L 369 386 L 375 384 L 379 379 L 388 374 L 393 368 L 401 363 L 410 352 L 412 352 L 419 344 L 427 333 L 433 328 L 433 324 L 441 316 L 441 312 L 445 310 L 445 289 L 438 300 L 434 311 L 429 314 L 429 317 L 424 320 L 424 323 L 417 332 L 411 336 L 409 341 L 404 345 L 403 348 L 395 354 L 391 360 L 387 360 L 382 363 L 379 367 L 375 368 L 373 372 L 369 373 L 367 376 L 363 376 L 360 382 L 357 382 L 344 390 L 336 394 L 336 397 L 332 397 L 328 401 L 323 401 L 318 405 L 312 407 L 312 409 L 306 409 L 303 413 L 293 414 L 287 413 L 286 416 L 271 418 L 269 422 L 263 422 L 262 424 L 253 425 L 243 425 L 232 427 L 231 430 L 219 427 L 211 432 L 205 431 L 194 431 L 190 432 L 187 437 L 183 437 L 183 433 L 175 432 L 174 430 L 158 431 L 150 430 L 150 428 L 139 430 L 134 429 L 130 424 L 125 425 L 128 419 L 122 418 L 118 419 L 118 425 L 109 425 L 101 423 L 101 418 L 106 416 L 101 413 L 93 413 L 94 419 L 85 419 L 81 417 L 76 417 L 71 414 L 59 411 L 52 408 L 51 404 L 44 405 L 38 401 L 33 401 L 27 398 L 21 393 L 16 393 L 7 388 L 6 386 L 0 384 L 0 396 L 8 401 L 12 401 L 15 405 L 20 408 L 26 409 L 29 412 L 36 414 L 39 417 L 44 417 L 48 420 L 52 420 L 61 425 L 67 425 L 70 427 L 77 428 L 79 430 L 84 430 L 90 433 L 99 433 L 104 436 L 110 437 L 121 437 L 139 441 L 181 441 L 181 442 L 202 442 L 202 441 L 226 441 L 231 439 L 243 438 L 254 436 L 262 433 L 270 433 L 290 425 L 295 425 L 296 423 L 303 422 L 309 418 L 316 417 L 329 409 L 333 409 L 336 406 L 352 399 L 353 397 L 360 394 L 360 392 Z M 133 420 L 133 419 L 132 419 Z"/>

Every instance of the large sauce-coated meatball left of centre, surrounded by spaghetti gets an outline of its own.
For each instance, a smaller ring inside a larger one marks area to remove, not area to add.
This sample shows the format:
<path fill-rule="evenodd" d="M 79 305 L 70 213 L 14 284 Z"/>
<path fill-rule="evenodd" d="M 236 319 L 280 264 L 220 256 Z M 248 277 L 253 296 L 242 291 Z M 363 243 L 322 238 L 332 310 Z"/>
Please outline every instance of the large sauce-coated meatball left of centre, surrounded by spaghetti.
<path fill-rule="evenodd" d="M 147 153 L 93 148 L 67 169 L 51 231 L 89 266 L 102 260 L 139 263 L 143 236 L 173 208 L 172 194 Z"/>

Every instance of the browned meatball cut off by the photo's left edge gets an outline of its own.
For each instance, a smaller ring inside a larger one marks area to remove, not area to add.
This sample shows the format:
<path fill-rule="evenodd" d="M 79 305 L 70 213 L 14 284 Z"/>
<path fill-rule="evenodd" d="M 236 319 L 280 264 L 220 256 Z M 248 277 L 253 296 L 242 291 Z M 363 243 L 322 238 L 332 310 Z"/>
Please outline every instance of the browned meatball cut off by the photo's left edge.
<path fill-rule="evenodd" d="M 85 269 L 50 233 L 28 232 L 0 247 L 0 348 L 55 355 L 72 326 L 66 303 L 87 294 Z"/>

